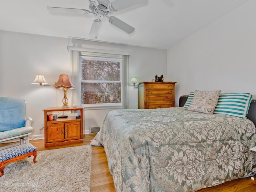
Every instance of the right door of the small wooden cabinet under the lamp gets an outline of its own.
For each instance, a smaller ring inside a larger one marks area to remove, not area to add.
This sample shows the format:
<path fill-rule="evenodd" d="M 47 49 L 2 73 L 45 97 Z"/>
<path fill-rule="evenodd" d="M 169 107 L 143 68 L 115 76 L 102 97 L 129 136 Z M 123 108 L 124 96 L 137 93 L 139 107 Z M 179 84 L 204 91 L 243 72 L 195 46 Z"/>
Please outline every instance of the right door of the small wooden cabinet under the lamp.
<path fill-rule="evenodd" d="M 65 123 L 65 141 L 81 139 L 80 122 Z"/>

